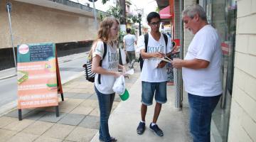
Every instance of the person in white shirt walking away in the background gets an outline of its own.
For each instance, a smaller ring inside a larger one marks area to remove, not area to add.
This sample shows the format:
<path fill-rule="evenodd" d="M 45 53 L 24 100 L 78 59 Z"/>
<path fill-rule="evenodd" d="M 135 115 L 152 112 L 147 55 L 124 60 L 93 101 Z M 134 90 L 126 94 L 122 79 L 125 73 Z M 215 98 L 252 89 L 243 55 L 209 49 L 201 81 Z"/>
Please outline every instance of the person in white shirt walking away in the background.
<path fill-rule="evenodd" d="M 127 28 L 127 35 L 124 35 L 124 51 L 129 59 L 129 68 L 133 68 L 135 62 L 135 48 L 134 43 L 137 44 L 135 35 L 131 34 L 131 28 Z"/>

